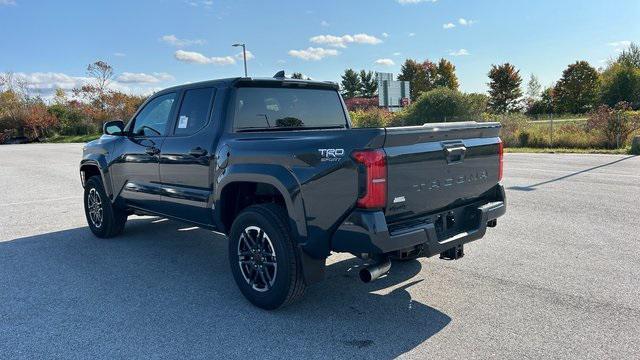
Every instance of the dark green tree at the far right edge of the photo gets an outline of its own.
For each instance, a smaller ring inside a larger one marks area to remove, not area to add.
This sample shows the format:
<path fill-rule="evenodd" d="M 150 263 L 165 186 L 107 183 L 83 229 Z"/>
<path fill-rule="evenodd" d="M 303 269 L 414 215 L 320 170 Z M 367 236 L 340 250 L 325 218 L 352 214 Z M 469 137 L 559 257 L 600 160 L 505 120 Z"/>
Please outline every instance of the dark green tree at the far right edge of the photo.
<path fill-rule="evenodd" d="M 621 101 L 640 108 L 640 68 L 629 63 L 611 64 L 601 76 L 600 99 L 610 107 Z"/>

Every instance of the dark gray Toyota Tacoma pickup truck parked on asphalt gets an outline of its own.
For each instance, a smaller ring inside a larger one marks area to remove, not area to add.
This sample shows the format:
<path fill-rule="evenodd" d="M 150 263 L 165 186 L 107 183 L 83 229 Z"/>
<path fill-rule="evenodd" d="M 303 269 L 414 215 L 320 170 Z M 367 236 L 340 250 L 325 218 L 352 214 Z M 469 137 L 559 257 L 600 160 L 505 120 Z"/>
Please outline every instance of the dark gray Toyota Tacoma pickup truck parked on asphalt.
<path fill-rule="evenodd" d="M 157 215 L 224 233 L 253 304 L 275 309 L 324 277 L 331 252 L 368 263 L 458 259 L 505 213 L 497 123 L 352 129 L 334 83 L 234 78 L 154 94 L 84 147 L 91 231 Z"/>

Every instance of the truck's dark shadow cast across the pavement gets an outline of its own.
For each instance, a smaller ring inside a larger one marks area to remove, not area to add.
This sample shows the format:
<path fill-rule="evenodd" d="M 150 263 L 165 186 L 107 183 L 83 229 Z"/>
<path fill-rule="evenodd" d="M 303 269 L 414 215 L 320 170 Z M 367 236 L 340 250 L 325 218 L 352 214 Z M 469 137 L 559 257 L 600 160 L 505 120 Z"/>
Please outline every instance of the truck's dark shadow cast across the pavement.
<path fill-rule="evenodd" d="M 419 261 L 371 284 L 359 260 L 332 263 L 302 301 L 267 312 L 237 290 L 226 250 L 222 236 L 158 218 L 131 219 L 116 239 L 83 227 L 0 242 L 0 353 L 394 358 L 451 321 L 412 301 Z"/>

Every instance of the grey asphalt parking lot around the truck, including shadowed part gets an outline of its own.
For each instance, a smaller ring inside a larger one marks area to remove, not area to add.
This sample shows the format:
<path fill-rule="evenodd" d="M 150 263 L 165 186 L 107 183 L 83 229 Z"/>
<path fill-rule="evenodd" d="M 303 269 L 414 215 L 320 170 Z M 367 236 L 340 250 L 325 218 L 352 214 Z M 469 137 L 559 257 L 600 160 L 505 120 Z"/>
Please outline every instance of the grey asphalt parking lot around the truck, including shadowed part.
<path fill-rule="evenodd" d="M 507 215 L 457 261 L 251 306 L 226 239 L 133 217 L 86 227 L 80 144 L 0 146 L 0 358 L 640 358 L 640 157 L 507 154 Z"/>

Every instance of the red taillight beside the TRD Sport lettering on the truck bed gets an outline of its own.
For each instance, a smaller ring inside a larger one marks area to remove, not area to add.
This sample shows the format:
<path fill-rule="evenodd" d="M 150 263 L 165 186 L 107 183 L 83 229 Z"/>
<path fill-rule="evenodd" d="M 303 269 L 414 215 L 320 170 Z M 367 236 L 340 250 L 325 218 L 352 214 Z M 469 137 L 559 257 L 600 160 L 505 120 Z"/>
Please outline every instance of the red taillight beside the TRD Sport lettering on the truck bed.
<path fill-rule="evenodd" d="M 354 151 L 351 155 L 360 165 L 362 186 L 358 207 L 379 209 L 387 204 L 387 161 L 383 150 Z"/>

